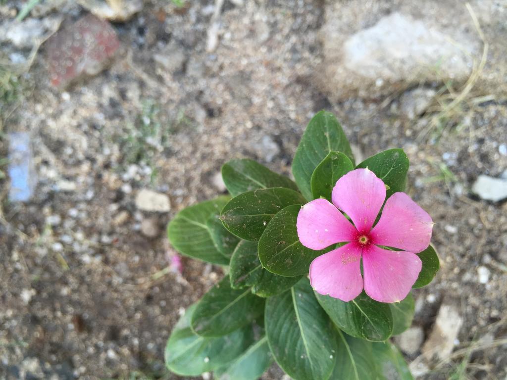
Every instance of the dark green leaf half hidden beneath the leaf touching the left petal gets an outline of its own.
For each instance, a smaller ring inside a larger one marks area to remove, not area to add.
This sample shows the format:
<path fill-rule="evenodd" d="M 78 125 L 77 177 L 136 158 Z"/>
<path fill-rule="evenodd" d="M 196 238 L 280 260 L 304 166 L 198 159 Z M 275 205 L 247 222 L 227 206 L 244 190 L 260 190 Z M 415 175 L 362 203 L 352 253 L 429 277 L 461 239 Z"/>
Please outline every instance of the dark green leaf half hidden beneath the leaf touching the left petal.
<path fill-rule="evenodd" d="M 270 297 L 287 290 L 300 277 L 282 277 L 262 268 L 257 243 L 242 240 L 231 258 L 229 270 L 231 286 L 234 289 L 252 287 L 252 293 L 260 297 Z"/>

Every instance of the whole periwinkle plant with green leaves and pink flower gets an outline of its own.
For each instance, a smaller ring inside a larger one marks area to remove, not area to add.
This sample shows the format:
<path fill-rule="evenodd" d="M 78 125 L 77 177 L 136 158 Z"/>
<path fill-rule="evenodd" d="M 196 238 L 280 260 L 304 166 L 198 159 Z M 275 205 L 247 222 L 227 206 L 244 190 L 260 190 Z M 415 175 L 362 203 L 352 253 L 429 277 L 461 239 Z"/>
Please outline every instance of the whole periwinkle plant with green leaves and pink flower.
<path fill-rule="evenodd" d="M 231 196 L 168 226 L 180 253 L 228 266 L 174 327 L 169 370 L 255 380 L 275 360 L 295 380 L 412 378 L 388 339 L 412 323 L 410 290 L 439 259 L 430 216 L 403 193 L 408 169 L 402 149 L 355 165 L 324 111 L 296 151 L 296 182 L 255 161 L 226 163 Z"/>

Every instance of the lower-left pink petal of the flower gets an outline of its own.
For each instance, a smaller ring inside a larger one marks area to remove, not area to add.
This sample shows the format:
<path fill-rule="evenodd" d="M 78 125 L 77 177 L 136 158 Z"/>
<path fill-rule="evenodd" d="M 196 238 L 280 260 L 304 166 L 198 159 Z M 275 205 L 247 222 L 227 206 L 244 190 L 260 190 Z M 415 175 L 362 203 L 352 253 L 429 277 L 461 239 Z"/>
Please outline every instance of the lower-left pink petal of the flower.
<path fill-rule="evenodd" d="M 363 290 L 361 250 L 355 244 L 345 244 L 318 256 L 310 264 L 310 284 L 323 295 L 348 302 Z"/>

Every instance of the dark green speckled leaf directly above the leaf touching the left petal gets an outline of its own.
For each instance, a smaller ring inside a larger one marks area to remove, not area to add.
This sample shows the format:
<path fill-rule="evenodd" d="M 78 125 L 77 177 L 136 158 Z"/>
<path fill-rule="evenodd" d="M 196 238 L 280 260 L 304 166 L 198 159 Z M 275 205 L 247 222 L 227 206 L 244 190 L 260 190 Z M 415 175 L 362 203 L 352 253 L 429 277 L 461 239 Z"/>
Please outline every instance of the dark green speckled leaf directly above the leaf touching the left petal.
<path fill-rule="evenodd" d="M 241 239 L 258 241 L 271 218 L 289 205 L 305 203 L 294 190 L 273 187 L 246 192 L 231 199 L 222 210 L 226 228 Z"/>

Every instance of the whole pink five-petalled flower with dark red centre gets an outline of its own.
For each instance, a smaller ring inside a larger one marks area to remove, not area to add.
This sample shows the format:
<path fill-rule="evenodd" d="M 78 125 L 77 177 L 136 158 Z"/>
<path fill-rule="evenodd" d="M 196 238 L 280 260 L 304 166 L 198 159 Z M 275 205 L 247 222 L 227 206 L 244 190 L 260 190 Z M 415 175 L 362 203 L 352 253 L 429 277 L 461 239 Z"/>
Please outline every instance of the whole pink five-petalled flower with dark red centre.
<path fill-rule="evenodd" d="M 416 253 L 428 247 L 433 221 L 408 195 L 394 193 L 372 229 L 385 196 L 382 180 L 371 170 L 356 169 L 336 182 L 333 204 L 315 199 L 301 208 L 297 222 L 301 244 L 319 250 L 347 243 L 310 264 L 310 283 L 317 293 L 347 302 L 364 288 L 379 302 L 397 302 L 410 292 L 422 266 Z"/>

